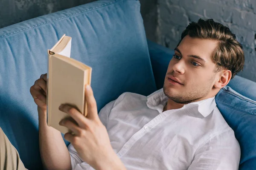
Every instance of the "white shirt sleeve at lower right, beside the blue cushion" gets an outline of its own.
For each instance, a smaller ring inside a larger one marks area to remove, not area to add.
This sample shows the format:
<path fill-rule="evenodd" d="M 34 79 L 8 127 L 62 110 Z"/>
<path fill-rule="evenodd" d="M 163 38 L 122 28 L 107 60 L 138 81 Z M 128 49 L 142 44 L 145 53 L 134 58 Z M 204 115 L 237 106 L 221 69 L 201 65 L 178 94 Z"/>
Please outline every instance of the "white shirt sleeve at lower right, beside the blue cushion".
<path fill-rule="evenodd" d="M 240 146 L 230 128 L 200 147 L 188 170 L 238 170 Z"/>

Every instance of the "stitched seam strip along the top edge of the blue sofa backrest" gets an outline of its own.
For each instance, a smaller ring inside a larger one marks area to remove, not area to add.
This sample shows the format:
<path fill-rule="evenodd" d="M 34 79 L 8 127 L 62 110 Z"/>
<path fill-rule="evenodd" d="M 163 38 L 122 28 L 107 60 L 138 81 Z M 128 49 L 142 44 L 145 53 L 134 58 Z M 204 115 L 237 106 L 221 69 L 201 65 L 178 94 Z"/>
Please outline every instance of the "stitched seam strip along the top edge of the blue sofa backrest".
<path fill-rule="evenodd" d="M 56 20 L 60 20 L 60 19 L 63 19 L 63 18 L 72 17 L 72 16 L 74 16 L 74 15 L 76 15 L 76 14 L 80 14 L 80 13 L 83 13 L 83 12 L 85 12 L 85 11 L 90 11 L 90 10 L 92 10 L 92 9 L 100 8 L 100 7 L 102 7 L 102 6 L 108 6 L 108 5 L 111 5 L 111 4 L 113 4 L 113 3 L 116 3 L 117 1 L 121 1 L 121 0 L 115 0 L 115 1 L 113 1 L 113 2 L 111 2 L 111 3 L 105 3 L 105 4 L 101 5 L 101 6 L 96 6 L 96 7 L 93 7 L 93 8 L 85 9 L 85 10 L 83 10 L 83 11 L 79 11 L 79 12 L 76 12 L 76 13 L 74 13 L 74 14 L 67 15 L 67 16 L 64 16 L 64 17 L 60 17 L 60 18 L 57 18 L 57 19 L 55 19 L 55 20 L 50 20 L 50 21 L 47 21 L 47 22 L 44 22 L 44 23 L 41 23 L 41 24 L 38 24 L 38 25 L 35 25 L 35 26 L 31 26 L 31 27 L 29 27 L 29 28 L 24 28 L 24 29 L 22 29 L 22 30 L 15 31 L 15 32 L 11 32 L 11 33 L 9 33 L 9 34 L 4 34 L 4 35 L 0 36 L 0 39 L 1 39 L 1 38 L 4 38 L 4 37 L 7 37 L 7 36 L 9 36 L 9 35 L 15 34 L 15 33 L 19 33 L 19 32 L 22 32 L 22 31 L 29 30 L 29 29 L 31 29 L 31 28 L 35 28 L 35 27 L 44 25 L 44 24 L 46 24 L 46 23 L 55 22 Z M 122 0 L 122 1 L 124 1 L 124 0 Z"/>

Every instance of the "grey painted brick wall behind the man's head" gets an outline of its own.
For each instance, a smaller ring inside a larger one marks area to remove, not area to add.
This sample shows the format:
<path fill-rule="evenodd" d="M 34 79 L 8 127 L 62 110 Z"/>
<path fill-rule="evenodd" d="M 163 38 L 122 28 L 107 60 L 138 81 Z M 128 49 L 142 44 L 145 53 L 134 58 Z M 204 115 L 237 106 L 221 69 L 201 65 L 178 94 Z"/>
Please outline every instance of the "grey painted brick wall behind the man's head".
<path fill-rule="evenodd" d="M 158 0 L 157 42 L 174 49 L 191 21 L 212 18 L 228 26 L 243 45 L 244 71 L 256 82 L 256 0 Z"/>

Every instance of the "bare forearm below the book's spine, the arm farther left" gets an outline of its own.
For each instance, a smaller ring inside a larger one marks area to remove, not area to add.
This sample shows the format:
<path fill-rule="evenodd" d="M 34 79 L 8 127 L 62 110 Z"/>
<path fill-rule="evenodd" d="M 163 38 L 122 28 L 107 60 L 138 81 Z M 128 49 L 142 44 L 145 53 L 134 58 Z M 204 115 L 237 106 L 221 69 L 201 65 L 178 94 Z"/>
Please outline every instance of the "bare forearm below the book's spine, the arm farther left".
<path fill-rule="evenodd" d="M 70 154 L 61 133 L 47 125 L 46 111 L 38 110 L 39 147 L 47 170 L 71 170 Z"/>

